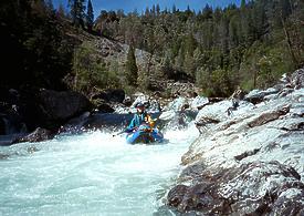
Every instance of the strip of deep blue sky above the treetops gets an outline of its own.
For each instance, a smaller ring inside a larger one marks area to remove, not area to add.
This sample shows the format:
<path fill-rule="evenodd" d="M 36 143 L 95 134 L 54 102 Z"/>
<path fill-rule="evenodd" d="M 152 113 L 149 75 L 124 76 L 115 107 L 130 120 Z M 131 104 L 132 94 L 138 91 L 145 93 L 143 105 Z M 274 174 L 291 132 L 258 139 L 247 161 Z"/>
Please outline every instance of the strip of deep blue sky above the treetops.
<path fill-rule="evenodd" d="M 145 12 L 146 8 L 151 8 L 153 4 L 159 4 L 160 9 L 164 10 L 172 9 L 175 4 L 177 9 L 185 10 L 189 6 L 191 10 L 198 11 L 208 3 L 212 8 L 226 7 L 230 3 L 240 6 L 241 0 L 91 0 L 93 3 L 94 17 L 97 18 L 102 10 L 114 10 L 123 9 L 125 13 L 132 12 L 135 9 L 138 13 Z M 67 6 L 67 0 L 53 0 L 55 7 L 62 3 L 64 7 Z"/>

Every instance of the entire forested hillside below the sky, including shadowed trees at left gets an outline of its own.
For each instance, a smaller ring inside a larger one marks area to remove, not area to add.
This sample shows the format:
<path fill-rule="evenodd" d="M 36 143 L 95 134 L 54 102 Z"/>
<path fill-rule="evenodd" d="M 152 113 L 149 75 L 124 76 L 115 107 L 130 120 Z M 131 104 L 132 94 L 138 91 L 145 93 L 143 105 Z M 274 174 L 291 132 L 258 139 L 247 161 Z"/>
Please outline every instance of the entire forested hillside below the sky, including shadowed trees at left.
<path fill-rule="evenodd" d="M 143 14 L 101 11 L 95 21 L 91 0 L 69 2 L 65 12 L 50 0 L 1 1 L 1 48 L 8 48 L 1 49 L 7 76 L 1 86 L 81 91 L 76 84 L 82 81 L 87 89 L 107 89 L 111 83 L 144 91 L 158 76 L 186 78 L 207 95 L 226 96 L 237 85 L 266 88 L 304 64 L 301 0 L 243 0 L 240 7 L 206 6 L 196 11 L 157 4 Z M 123 68 L 115 66 L 120 60 L 105 63 L 98 55 L 92 41 L 101 37 L 130 45 Z M 149 53 L 143 74 L 134 49 Z M 153 60 L 157 68 L 150 66 Z M 117 74 L 125 79 L 115 79 Z"/>

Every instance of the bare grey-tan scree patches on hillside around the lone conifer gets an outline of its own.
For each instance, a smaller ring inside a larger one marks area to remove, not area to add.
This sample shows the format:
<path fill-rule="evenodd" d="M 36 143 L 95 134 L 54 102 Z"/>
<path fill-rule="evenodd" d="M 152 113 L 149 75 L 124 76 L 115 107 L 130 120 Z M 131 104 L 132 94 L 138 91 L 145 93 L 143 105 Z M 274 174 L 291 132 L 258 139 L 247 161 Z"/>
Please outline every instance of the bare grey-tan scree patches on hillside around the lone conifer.
<path fill-rule="evenodd" d="M 99 37 L 91 40 L 96 49 L 96 54 L 107 65 L 115 66 L 117 71 L 125 70 L 129 45 Z M 135 58 L 139 74 L 138 81 L 143 82 L 148 78 L 146 84 L 150 91 L 159 91 L 163 96 L 174 96 L 175 94 L 188 96 L 198 92 L 193 79 L 190 79 L 186 73 L 175 71 L 174 78 L 164 74 L 161 60 L 155 54 L 135 49 Z"/>

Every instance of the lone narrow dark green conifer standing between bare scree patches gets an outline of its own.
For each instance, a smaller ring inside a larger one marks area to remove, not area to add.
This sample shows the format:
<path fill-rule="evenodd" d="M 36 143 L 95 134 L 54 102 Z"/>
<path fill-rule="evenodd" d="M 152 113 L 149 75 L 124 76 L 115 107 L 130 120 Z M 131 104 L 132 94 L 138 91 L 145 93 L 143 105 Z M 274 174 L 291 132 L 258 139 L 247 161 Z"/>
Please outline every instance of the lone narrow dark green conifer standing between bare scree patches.
<path fill-rule="evenodd" d="M 128 84 L 136 86 L 138 78 L 138 69 L 136 65 L 135 49 L 129 45 L 127 62 L 126 62 L 126 76 Z"/>

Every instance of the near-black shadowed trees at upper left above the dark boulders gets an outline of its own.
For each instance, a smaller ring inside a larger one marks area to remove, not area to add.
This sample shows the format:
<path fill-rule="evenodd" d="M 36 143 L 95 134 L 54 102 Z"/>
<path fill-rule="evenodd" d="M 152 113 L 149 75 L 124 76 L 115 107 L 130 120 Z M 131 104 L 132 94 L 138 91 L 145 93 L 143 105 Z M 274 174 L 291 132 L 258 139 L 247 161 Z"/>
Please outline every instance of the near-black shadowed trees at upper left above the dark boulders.
<path fill-rule="evenodd" d="M 1 86 L 65 86 L 74 43 L 64 20 L 50 1 L 1 1 Z"/>

